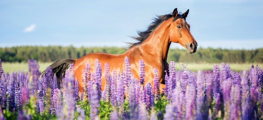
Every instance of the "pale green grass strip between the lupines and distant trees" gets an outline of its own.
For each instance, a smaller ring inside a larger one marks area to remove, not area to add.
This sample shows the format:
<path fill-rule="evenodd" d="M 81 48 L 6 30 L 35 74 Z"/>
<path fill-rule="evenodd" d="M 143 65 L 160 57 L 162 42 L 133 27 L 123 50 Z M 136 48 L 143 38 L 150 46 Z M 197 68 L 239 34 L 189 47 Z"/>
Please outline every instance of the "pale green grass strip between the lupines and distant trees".
<path fill-rule="evenodd" d="M 39 64 L 39 70 L 42 72 L 44 69 L 49 66 L 52 63 L 38 63 Z M 188 70 L 191 71 L 197 71 L 197 70 L 212 70 L 214 64 L 218 64 L 221 66 L 221 63 L 185 63 L 186 67 Z M 251 68 L 251 65 L 253 63 L 245 63 L 245 64 L 237 64 L 237 63 L 232 63 L 230 64 L 231 70 L 235 71 L 240 71 L 240 70 L 248 70 Z M 24 70 L 28 71 L 28 63 L 10 63 L 10 62 L 3 62 L 3 70 L 5 72 L 10 72 L 10 71 L 18 71 L 18 70 Z M 254 65 L 257 65 L 254 63 Z M 260 68 L 263 67 L 263 64 L 258 64 Z M 177 70 L 182 70 L 182 67 L 180 63 L 176 63 L 176 69 Z"/>

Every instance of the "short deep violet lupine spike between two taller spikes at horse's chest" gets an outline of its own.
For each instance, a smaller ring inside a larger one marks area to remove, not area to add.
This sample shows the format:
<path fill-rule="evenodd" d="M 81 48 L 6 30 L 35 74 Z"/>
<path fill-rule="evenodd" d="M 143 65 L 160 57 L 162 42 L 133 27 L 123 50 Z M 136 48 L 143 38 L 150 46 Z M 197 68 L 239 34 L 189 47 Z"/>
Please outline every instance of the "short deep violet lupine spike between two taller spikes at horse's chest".
<path fill-rule="evenodd" d="M 150 111 L 151 107 L 154 105 L 154 97 L 152 94 L 152 88 L 151 88 L 150 82 L 146 83 L 146 85 L 145 85 L 144 97 L 145 97 L 144 99 L 145 99 L 145 103 L 147 106 L 147 110 Z"/>

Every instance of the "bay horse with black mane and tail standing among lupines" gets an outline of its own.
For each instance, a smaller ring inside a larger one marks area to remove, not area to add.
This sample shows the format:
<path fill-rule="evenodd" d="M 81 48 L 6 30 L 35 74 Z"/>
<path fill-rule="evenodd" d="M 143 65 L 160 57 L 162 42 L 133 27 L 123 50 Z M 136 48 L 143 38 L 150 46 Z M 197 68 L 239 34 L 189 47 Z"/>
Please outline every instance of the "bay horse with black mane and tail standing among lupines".
<path fill-rule="evenodd" d="M 146 31 L 138 31 L 138 37 L 132 37 L 138 43 L 130 43 L 130 48 L 127 52 L 120 55 L 111 55 L 102 52 L 95 52 L 85 55 L 80 59 L 63 59 L 51 64 L 51 68 L 56 73 L 59 82 L 64 76 L 65 70 L 69 64 L 74 64 L 75 78 L 78 79 L 81 88 L 82 71 L 85 69 L 85 64 L 89 63 L 91 71 L 94 72 L 95 59 L 99 59 L 104 71 L 104 64 L 109 63 L 110 72 L 116 70 L 120 73 L 125 69 L 124 59 L 127 56 L 130 60 L 131 70 L 134 78 L 139 78 L 139 60 L 143 59 L 145 64 L 145 80 L 144 84 L 150 82 L 153 84 L 153 70 L 156 67 L 160 76 L 160 89 L 165 88 L 164 85 L 164 70 L 168 71 L 167 54 L 171 42 L 179 43 L 187 49 L 189 53 L 196 52 L 197 43 L 190 33 L 190 25 L 186 22 L 186 17 L 189 10 L 183 14 L 178 14 L 177 8 L 172 14 L 157 16 Z M 102 90 L 104 90 L 105 80 L 102 73 Z"/>

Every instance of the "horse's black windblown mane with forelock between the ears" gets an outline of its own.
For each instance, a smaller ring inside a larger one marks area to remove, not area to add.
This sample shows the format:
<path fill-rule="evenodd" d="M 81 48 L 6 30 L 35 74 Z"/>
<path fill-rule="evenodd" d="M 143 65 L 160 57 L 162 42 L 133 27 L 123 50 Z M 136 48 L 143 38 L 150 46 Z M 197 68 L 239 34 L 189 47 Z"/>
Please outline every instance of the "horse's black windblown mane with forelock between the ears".
<path fill-rule="evenodd" d="M 159 15 L 156 16 L 155 18 L 153 18 L 153 22 L 151 22 L 150 25 L 148 25 L 147 29 L 144 31 L 137 31 L 138 36 L 131 36 L 132 39 L 135 39 L 136 43 L 127 43 L 128 44 L 128 48 L 131 48 L 132 46 L 135 46 L 137 44 L 140 44 L 141 42 L 143 42 L 146 38 L 149 37 L 149 35 L 151 34 L 151 32 L 154 31 L 154 29 L 157 28 L 157 26 L 159 26 L 162 22 L 164 22 L 165 20 L 171 18 L 173 15 L 170 14 L 165 14 L 165 15 Z M 178 18 L 184 18 L 184 16 L 182 16 L 182 13 L 179 13 L 177 15 L 177 17 L 174 17 L 173 21 L 177 20 Z"/>

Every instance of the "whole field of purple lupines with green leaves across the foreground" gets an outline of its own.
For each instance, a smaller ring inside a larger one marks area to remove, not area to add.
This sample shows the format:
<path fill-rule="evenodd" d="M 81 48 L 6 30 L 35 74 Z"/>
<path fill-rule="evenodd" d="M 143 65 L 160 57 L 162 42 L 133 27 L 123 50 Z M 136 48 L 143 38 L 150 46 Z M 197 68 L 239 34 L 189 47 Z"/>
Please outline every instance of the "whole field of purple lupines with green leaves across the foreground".
<path fill-rule="evenodd" d="M 60 82 L 50 67 L 41 74 L 35 60 L 28 60 L 26 72 L 5 73 L 0 59 L 0 119 L 263 119 L 263 71 L 257 65 L 235 72 L 222 63 L 212 71 L 191 72 L 183 64 L 183 70 L 176 70 L 171 61 L 162 93 L 157 69 L 153 84 L 144 85 L 144 61 L 139 61 L 139 79 L 134 79 L 129 59 L 123 62 L 121 73 L 110 73 L 109 64 L 102 71 L 98 59 L 95 66 L 87 63 L 80 92 L 73 65 Z"/>

